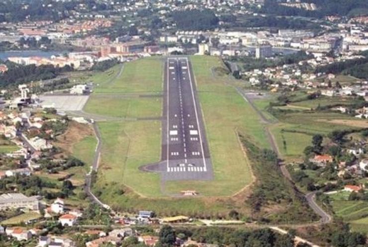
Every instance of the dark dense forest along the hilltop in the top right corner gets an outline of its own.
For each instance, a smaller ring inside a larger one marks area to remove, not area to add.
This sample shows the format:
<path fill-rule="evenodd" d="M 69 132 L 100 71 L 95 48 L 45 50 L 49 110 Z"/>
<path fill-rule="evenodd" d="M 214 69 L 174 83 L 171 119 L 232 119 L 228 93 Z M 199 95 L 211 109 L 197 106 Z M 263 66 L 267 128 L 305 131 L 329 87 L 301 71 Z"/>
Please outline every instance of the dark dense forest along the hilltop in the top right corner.
<path fill-rule="evenodd" d="M 265 0 L 265 4 L 260 11 L 276 15 L 322 18 L 328 15 L 349 15 L 351 11 L 368 8 L 367 0 L 305 0 L 304 2 L 315 3 L 318 9 L 310 11 L 303 8 L 280 5 L 279 0 Z"/>

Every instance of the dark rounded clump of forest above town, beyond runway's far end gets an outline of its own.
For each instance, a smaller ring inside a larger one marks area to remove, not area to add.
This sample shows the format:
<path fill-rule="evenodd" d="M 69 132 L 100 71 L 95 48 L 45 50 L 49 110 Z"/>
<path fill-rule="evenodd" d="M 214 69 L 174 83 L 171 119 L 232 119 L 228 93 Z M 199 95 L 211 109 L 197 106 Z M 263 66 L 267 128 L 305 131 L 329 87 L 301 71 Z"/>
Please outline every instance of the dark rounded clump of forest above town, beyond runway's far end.
<path fill-rule="evenodd" d="M 208 9 L 183 10 L 173 13 L 174 21 L 182 30 L 207 30 L 217 27 L 219 19 Z"/>

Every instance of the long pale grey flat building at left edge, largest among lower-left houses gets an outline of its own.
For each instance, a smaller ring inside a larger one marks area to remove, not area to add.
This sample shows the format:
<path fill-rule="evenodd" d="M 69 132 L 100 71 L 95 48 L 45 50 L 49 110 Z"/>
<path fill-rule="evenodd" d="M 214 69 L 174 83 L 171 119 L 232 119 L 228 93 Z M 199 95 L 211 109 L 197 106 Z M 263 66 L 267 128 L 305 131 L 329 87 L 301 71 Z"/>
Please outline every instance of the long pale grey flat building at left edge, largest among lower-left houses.
<path fill-rule="evenodd" d="M 21 193 L 5 193 L 0 195 L 0 209 L 28 208 L 39 210 L 41 197 L 38 195 L 27 197 Z"/>

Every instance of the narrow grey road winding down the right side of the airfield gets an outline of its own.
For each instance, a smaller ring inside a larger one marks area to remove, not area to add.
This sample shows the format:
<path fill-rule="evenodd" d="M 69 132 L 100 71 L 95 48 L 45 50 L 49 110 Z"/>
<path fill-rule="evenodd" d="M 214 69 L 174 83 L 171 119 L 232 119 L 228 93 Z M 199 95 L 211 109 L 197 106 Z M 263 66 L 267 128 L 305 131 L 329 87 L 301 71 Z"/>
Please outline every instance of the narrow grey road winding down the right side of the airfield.
<path fill-rule="evenodd" d="M 266 123 L 266 124 L 272 124 L 264 115 L 263 113 L 253 104 L 252 99 L 250 97 L 248 97 L 247 92 L 242 89 L 237 87 L 236 90 L 238 91 L 239 94 L 241 94 L 241 96 L 251 105 L 251 107 L 258 113 L 258 115 L 261 117 L 262 122 Z M 277 144 L 275 141 L 275 138 L 273 136 L 273 134 L 271 133 L 271 131 L 269 130 L 269 128 L 266 126 L 265 127 L 266 133 L 268 135 L 269 141 L 271 143 L 271 147 L 272 149 L 278 154 L 280 155 L 278 148 L 277 148 Z M 322 224 L 325 223 L 329 223 L 332 220 L 331 215 L 329 215 L 327 212 L 325 212 L 316 202 L 315 202 L 315 194 L 317 193 L 317 191 L 313 191 L 310 192 L 308 194 L 304 194 L 303 192 L 301 192 L 297 186 L 295 185 L 295 183 L 292 181 L 291 176 L 289 171 L 286 169 L 286 167 L 280 162 L 279 163 L 280 166 L 280 170 L 282 175 L 291 183 L 291 185 L 294 187 L 294 190 L 296 191 L 297 194 L 305 197 L 309 207 L 317 214 L 321 217 L 320 222 Z"/>

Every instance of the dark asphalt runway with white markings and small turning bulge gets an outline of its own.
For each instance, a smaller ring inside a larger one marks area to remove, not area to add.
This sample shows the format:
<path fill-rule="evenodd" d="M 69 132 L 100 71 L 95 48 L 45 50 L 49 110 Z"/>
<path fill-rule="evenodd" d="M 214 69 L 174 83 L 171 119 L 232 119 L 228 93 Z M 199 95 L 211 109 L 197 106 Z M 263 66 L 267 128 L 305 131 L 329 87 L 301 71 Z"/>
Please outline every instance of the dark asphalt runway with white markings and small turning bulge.
<path fill-rule="evenodd" d="M 160 172 L 165 181 L 213 178 L 198 102 L 188 59 L 168 58 L 165 62 L 161 162 L 143 170 Z"/>

